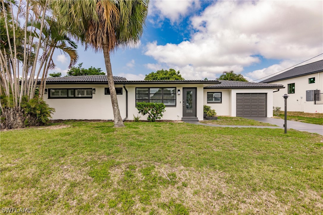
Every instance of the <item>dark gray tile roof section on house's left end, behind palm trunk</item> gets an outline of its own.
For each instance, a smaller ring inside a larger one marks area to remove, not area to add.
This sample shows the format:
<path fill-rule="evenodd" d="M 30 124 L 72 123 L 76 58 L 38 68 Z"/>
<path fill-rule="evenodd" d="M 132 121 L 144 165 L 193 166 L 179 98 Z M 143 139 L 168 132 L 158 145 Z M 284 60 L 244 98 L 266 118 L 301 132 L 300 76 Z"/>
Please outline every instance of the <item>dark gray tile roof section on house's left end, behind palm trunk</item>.
<path fill-rule="evenodd" d="M 115 82 L 124 82 L 127 81 L 124 77 L 113 76 Z M 38 79 L 40 82 L 40 79 Z M 84 76 L 68 76 L 68 77 L 56 77 L 56 78 L 47 78 L 47 83 L 60 83 L 60 82 L 108 82 L 106 75 L 84 75 Z"/>

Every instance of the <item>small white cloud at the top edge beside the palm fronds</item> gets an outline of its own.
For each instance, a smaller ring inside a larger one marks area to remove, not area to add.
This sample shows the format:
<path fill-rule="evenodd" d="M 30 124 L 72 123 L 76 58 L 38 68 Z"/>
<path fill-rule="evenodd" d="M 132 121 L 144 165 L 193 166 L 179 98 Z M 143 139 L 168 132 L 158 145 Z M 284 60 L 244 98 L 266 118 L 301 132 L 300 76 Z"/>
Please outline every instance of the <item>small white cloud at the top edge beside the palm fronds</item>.
<path fill-rule="evenodd" d="M 192 10 L 200 7 L 198 1 L 151 1 L 148 9 L 148 21 L 156 24 L 151 17 L 159 17 L 157 22 L 169 19 L 171 23 L 179 21 Z"/>

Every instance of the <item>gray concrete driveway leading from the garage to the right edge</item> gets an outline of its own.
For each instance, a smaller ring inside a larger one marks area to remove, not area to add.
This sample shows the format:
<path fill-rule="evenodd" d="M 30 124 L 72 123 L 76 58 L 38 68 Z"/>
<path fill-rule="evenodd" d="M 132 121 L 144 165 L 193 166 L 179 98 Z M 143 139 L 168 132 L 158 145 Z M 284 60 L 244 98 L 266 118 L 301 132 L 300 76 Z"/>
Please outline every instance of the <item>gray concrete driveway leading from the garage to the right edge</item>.
<path fill-rule="evenodd" d="M 283 127 L 284 125 L 283 119 L 270 118 L 270 117 L 244 117 L 244 118 L 256 120 L 259 122 L 267 122 L 281 127 Z M 302 131 L 302 132 L 311 132 L 311 133 L 318 133 L 320 135 L 323 135 L 323 125 L 316 125 L 316 124 L 310 124 L 305 122 L 296 122 L 296 121 L 287 120 L 287 128 L 295 129 L 297 131 Z"/>

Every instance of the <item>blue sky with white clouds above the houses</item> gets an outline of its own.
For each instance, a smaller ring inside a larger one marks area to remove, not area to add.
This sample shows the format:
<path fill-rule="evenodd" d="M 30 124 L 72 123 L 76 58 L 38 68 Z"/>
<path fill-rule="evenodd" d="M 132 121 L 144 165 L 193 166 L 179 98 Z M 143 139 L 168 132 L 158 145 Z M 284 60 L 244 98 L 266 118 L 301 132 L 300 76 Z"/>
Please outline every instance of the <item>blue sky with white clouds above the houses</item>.
<path fill-rule="evenodd" d="M 234 70 L 256 80 L 323 53 L 322 7 L 322 1 L 151 1 L 140 43 L 112 54 L 112 71 L 135 80 L 162 68 L 185 79 Z M 105 71 L 102 53 L 82 46 L 78 53 L 83 67 Z M 57 52 L 54 60 L 64 75 L 68 57 Z"/>

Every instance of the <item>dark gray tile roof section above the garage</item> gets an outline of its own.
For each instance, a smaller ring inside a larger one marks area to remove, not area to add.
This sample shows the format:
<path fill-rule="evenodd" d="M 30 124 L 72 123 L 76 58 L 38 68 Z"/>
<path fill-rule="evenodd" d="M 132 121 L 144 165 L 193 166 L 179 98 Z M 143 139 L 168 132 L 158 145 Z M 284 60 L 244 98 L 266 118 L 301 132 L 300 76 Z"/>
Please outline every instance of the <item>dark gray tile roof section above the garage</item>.
<path fill-rule="evenodd" d="M 242 82 L 242 81 L 224 81 L 219 80 L 221 83 L 212 86 L 204 87 L 204 89 L 231 89 L 231 88 L 284 88 L 282 84 L 269 84 L 269 83 L 254 83 L 254 82 Z"/>

